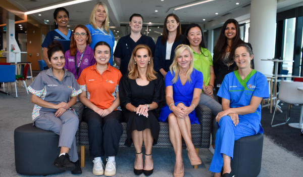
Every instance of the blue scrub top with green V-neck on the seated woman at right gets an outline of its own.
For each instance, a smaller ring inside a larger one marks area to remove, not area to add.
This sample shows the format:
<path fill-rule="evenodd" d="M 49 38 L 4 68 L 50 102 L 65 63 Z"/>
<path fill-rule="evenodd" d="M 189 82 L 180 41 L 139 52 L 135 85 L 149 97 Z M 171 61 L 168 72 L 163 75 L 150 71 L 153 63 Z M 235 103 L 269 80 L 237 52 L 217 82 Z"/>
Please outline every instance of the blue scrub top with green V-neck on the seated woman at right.
<path fill-rule="evenodd" d="M 252 70 L 244 80 L 240 77 L 238 70 L 227 74 L 221 84 L 217 96 L 230 100 L 230 108 L 248 106 L 252 96 L 269 98 L 268 83 L 265 75 L 256 70 Z M 252 128 L 263 134 L 261 126 L 261 104 L 256 112 L 238 115 L 240 122 L 250 124 Z"/>

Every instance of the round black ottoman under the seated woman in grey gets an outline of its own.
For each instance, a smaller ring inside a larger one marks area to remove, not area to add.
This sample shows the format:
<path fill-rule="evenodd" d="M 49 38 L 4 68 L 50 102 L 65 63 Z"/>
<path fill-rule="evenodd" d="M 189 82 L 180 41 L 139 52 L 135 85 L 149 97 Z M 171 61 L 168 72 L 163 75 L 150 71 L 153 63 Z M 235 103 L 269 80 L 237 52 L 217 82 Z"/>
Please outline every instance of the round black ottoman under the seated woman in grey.
<path fill-rule="evenodd" d="M 52 164 L 60 154 L 59 135 L 32 123 L 19 126 L 14 132 L 15 164 L 19 174 L 48 175 L 65 170 Z"/>

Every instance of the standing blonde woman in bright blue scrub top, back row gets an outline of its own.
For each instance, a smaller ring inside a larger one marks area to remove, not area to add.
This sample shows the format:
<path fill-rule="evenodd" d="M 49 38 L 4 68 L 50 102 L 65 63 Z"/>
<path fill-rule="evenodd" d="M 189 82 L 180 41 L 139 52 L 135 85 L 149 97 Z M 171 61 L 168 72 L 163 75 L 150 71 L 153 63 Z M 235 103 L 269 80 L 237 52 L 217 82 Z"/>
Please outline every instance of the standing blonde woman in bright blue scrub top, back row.
<path fill-rule="evenodd" d="M 111 51 L 114 51 L 115 37 L 110 30 L 109 25 L 109 11 L 107 6 L 103 2 L 98 2 L 92 9 L 89 24 L 85 25 L 91 35 L 91 43 L 89 47 L 94 49 L 94 46 L 99 41 L 105 41 L 111 47 Z M 113 52 L 109 64 L 113 66 Z"/>

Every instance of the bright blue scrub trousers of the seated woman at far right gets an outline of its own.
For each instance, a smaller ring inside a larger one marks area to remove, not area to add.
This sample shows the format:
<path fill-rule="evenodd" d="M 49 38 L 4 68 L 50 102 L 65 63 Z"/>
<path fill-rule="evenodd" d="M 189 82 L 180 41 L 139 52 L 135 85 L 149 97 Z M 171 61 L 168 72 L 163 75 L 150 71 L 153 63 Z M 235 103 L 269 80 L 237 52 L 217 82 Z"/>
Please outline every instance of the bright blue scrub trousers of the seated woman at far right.
<path fill-rule="evenodd" d="M 256 134 L 255 129 L 248 123 L 239 121 L 237 126 L 235 126 L 230 116 L 226 115 L 222 117 L 219 121 L 219 129 L 216 134 L 215 154 L 209 170 L 212 172 L 221 172 L 223 167 L 222 154 L 226 154 L 232 160 L 235 141 L 242 137 Z"/>

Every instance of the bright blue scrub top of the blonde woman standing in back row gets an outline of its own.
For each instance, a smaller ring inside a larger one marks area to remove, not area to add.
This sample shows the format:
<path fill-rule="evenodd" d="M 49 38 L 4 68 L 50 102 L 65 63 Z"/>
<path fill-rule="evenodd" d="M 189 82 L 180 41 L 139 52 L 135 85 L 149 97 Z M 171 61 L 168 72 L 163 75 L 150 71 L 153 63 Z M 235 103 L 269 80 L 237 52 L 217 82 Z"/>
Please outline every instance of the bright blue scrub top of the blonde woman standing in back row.
<path fill-rule="evenodd" d="M 107 42 L 111 47 L 111 59 L 109 61 L 110 65 L 113 66 L 113 54 L 114 54 L 114 46 L 115 46 L 115 37 L 112 31 L 110 30 L 110 33 L 108 34 L 103 28 L 93 28 L 91 24 L 85 25 L 91 35 L 91 43 L 89 47 L 91 49 L 94 49 L 94 46 L 99 41 L 105 41 Z"/>

